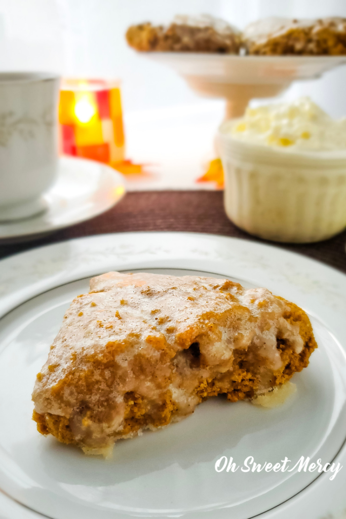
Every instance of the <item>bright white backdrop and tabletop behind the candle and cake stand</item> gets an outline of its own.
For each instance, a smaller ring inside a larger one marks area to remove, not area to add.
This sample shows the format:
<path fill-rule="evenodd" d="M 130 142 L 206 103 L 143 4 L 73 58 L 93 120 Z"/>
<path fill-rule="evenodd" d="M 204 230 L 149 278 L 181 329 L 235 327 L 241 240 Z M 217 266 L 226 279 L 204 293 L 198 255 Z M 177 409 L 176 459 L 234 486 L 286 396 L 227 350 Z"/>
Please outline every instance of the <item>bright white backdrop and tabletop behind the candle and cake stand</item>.
<path fill-rule="evenodd" d="M 120 78 L 128 156 L 158 165 L 156 187 L 196 188 L 196 177 L 215 155 L 213 136 L 224 102 L 200 98 L 172 70 L 136 54 L 124 39 L 132 23 L 168 22 L 177 13 L 211 13 L 243 28 L 266 16 L 346 17 L 346 0 L 0 0 L 0 71 Z M 282 97 L 309 94 L 341 117 L 345 85 L 342 66 L 292 85 Z M 142 184 L 136 188 L 148 186 Z"/>

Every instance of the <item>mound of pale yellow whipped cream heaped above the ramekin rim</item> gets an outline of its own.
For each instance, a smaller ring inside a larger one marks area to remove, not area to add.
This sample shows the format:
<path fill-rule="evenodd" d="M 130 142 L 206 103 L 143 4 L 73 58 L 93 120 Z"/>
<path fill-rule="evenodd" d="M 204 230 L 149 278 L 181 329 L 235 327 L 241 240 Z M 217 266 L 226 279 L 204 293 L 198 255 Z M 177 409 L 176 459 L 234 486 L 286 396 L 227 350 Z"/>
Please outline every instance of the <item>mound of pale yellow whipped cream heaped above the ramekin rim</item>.
<path fill-rule="evenodd" d="M 229 132 L 234 139 L 287 152 L 346 150 L 346 119 L 331 118 L 308 97 L 249 107 Z"/>

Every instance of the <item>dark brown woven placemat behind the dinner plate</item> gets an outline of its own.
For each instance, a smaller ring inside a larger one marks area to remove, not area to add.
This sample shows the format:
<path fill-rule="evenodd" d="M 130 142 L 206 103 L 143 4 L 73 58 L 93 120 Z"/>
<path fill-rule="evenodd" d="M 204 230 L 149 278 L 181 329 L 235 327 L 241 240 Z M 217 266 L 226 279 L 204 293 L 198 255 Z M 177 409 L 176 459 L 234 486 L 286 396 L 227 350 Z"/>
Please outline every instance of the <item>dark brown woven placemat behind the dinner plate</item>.
<path fill-rule="evenodd" d="M 225 214 L 220 191 L 147 191 L 128 193 L 106 213 L 45 238 L 0 245 L 0 257 L 71 238 L 126 231 L 190 231 L 273 244 L 254 238 L 233 225 Z M 276 245 L 346 272 L 345 243 L 346 231 L 319 243 Z"/>

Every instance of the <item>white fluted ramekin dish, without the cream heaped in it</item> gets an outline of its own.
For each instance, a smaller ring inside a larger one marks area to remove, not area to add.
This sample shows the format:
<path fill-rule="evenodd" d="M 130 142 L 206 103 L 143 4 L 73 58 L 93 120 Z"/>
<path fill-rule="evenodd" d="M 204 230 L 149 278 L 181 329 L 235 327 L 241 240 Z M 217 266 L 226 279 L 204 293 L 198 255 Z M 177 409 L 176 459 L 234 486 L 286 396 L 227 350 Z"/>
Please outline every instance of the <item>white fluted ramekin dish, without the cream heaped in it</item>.
<path fill-rule="evenodd" d="M 346 151 L 287 152 L 218 133 L 227 216 L 248 233 L 308 243 L 346 226 Z"/>

